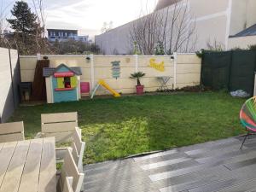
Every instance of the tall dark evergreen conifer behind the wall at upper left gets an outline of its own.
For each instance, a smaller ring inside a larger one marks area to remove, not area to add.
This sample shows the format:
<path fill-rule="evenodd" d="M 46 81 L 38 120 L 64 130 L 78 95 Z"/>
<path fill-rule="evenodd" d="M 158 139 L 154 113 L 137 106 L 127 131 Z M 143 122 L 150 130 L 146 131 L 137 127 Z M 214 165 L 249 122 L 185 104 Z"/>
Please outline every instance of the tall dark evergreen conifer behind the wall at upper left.
<path fill-rule="evenodd" d="M 14 19 L 7 20 L 14 30 L 14 41 L 20 54 L 33 54 L 38 49 L 38 39 L 42 39 L 42 27 L 37 22 L 28 4 L 23 1 L 15 2 L 11 10 Z"/>

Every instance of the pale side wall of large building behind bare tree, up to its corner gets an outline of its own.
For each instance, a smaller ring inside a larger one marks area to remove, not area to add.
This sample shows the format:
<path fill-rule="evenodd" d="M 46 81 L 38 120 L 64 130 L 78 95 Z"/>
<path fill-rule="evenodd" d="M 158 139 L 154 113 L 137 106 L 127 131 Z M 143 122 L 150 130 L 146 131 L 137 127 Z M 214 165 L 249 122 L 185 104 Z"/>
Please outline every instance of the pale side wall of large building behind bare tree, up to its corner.
<path fill-rule="evenodd" d="M 195 36 L 197 36 L 198 39 L 196 49 L 205 48 L 208 41 L 216 40 L 225 44 L 227 25 L 226 10 L 228 6 L 229 0 L 189 1 L 190 13 L 193 15 L 193 18 L 195 18 L 192 22 L 196 22 Z M 166 13 L 166 9 L 160 9 L 160 14 Z M 170 13 L 169 15 L 171 20 L 172 15 Z M 128 54 L 132 49 L 131 40 L 129 42 L 129 32 L 131 31 L 132 22 L 96 36 L 96 44 L 102 48 L 106 55 L 113 54 L 113 49 L 117 49 L 119 54 Z"/>

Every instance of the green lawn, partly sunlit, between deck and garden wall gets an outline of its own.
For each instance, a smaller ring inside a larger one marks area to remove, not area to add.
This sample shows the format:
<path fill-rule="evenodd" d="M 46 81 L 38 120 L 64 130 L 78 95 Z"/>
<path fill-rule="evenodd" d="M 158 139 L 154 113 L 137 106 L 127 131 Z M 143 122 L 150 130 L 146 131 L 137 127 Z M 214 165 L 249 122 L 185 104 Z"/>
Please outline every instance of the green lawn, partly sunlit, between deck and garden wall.
<path fill-rule="evenodd" d="M 223 92 L 126 96 L 20 107 L 26 137 L 40 131 L 41 113 L 79 112 L 84 162 L 203 143 L 243 133 L 238 115 L 245 99 Z"/>

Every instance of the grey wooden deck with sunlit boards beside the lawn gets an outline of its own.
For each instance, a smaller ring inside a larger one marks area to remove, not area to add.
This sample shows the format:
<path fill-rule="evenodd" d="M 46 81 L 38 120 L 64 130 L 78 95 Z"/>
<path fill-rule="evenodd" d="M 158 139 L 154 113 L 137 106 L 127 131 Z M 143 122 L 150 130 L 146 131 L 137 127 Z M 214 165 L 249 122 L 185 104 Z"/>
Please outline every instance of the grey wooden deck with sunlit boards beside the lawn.
<path fill-rule="evenodd" d="M 84 167 L 84 192 L 256 192 L 256 137 L 175 148 Z"/>

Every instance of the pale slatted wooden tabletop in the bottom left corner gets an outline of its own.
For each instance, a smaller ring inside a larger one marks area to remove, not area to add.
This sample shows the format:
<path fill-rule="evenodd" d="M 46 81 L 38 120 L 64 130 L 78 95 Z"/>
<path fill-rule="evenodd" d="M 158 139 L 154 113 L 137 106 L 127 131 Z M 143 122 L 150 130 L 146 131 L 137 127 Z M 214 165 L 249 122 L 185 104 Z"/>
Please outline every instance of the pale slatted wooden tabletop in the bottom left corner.
<path fill-rule="evenodd" d="M 55 137 L 0 143 L 0 192 L 55 192 Z"/>

